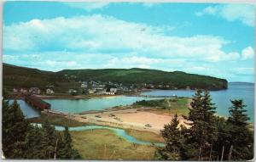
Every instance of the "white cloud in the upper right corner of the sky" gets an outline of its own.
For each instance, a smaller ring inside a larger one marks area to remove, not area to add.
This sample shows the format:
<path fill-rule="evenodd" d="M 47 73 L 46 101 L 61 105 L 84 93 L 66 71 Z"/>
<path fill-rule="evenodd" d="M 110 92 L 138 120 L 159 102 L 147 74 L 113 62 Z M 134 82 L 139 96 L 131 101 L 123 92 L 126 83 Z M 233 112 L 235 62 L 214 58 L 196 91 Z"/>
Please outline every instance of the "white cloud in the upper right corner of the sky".
<path fill-rule="evenodd" d="M 196 12 L 196 16 L 216 15 L 224 20 L 235 21 L 240 20 L 244 25 L 254 26 L 255 8 L 250 4 L 225 4 L 210 6 L 204 8 L 200 12 Z"/>

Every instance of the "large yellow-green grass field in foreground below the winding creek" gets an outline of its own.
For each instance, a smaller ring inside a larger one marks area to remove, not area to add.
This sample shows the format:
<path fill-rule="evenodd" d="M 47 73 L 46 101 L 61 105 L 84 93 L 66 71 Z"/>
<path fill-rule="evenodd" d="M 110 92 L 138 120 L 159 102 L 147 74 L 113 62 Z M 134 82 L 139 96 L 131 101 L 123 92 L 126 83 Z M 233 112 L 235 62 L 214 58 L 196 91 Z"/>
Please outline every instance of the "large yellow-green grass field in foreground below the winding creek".
<path fill-rule="evenodd" d="M 153 146 L 127 142 L 110 130 L 70 131 L 73 147 L 83 159 L 154 159 Z"/>

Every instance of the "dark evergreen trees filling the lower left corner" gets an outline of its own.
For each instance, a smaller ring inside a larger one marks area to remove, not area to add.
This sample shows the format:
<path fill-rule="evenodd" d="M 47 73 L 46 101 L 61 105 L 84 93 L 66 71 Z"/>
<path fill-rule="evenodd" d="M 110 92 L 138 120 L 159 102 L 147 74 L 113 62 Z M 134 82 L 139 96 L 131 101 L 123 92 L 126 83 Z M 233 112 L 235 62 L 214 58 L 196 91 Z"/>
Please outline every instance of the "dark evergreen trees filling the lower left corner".
<path fill-rule="evenodd" d="M 61 135 L 45 120 L 32 126 L 19 104 L 3 100 L 3 155 L 6 159 L 79 159 L 67 127 Z"/>

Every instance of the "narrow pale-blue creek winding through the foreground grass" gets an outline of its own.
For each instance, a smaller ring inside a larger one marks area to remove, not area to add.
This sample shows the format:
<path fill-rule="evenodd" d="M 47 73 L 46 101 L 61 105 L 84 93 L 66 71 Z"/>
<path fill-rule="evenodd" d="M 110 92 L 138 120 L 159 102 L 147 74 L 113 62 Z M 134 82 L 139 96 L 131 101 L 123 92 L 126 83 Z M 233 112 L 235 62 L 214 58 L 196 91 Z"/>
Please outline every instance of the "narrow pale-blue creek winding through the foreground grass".
<path fill-rule="evenodd" d="M 41 126 L 40 124 L 37 124 L 38 126 Z M 55 126 L 55 130 L 57 131 L 64 131 L 63 126 Z M 145 142 L 138 140 L 135 137 L 132 137 L 126 133 L 125 130 L 119 129 L 119 128 L 113 128 L 108 126 L 77 126 L 77 127 L 69 127 L 69 131 L 87 131 L 87 130 L 95 130 L 95 129 L 108 129 L 113 131 L 117 136 L 125 138 L 128 142 L 133 142 L 137 144 L 144 144 L 144 145 L 152 145 L 152 142 Z M 154 143 L 156 146 L 163 147 L 165 146 L 163 143 Z"/>

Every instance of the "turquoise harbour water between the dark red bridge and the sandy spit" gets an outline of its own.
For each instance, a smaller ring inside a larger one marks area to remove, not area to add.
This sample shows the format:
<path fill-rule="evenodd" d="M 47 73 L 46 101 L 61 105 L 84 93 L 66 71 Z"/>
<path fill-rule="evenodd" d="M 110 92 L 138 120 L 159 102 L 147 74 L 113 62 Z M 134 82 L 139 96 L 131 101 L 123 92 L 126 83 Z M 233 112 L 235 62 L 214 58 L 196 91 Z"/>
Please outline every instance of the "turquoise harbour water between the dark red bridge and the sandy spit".
<path fill-rule="evenodd" d="M 90 98 L 90 99 L 45 99 L 51 104 L 51 109 L 71 114 L 81 113 L 89 110 L 102 110 L 119 105 L 128 105 L 136 101 L 160 98 L 141 98 L 141 97 L 108 97 L 108 98 Z"/>

